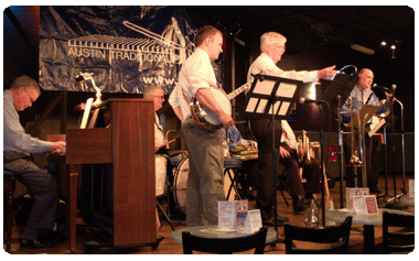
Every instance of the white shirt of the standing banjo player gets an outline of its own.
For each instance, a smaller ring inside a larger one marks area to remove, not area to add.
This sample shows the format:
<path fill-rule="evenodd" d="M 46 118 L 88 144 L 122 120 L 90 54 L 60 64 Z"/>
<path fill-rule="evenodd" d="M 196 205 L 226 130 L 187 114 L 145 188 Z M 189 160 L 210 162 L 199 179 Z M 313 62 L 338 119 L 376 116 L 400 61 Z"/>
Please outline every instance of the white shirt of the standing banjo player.
<path fill-rule="evenodd" d="M 184 119 L 191 117 L 190 101 L 201 88 L 216 87 L 214 68 L 205 51 L 196 48 L 179 73 L 179 81 L 169 97 L 172 108 L 181 107 Z"/>

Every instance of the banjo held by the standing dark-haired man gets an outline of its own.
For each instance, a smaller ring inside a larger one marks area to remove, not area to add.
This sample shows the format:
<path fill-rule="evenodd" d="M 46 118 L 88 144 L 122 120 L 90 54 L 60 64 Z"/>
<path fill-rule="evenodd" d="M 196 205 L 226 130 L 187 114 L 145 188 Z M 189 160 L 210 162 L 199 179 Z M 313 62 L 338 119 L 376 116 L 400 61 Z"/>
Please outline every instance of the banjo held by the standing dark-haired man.
<path fill-rule="evenodd" d="M 224 112 L 232 115 L 232 104 L 230 100 L 236 96 L 245 91 L 247 88 L 251 86 L 251 81 L 241 85 L 239 88 L 235 89 L 230 94 L 226 95 L 222 88 L 211 87 L 211 91 L 217 101 L 217 104 L 222 107 Z M 200 105 L 200 101 L 196 99 L 196 96 L 191 99 L 190 104 L 191 115 L 194 121 L 204 130 L 215 131 L 223 127 L 218 117 L 208 110 L 205 106 Z"/>

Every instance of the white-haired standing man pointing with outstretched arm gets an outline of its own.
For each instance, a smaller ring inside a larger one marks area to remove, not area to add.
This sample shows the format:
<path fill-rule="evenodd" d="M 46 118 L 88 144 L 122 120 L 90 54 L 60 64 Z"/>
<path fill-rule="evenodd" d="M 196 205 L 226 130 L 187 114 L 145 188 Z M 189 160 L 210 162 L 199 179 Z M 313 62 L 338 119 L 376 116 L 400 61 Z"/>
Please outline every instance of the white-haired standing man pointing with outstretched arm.
<path fill-rule="evenodd" d="M 335 66 L 326 67 L 320 70 L 288 70 L 280 69 L 276 64 L 281 59 L 286 52 L 287 39 L 277 32 L 267 32 L 260 37 L 260 56 L 250 65 L 247 74 L 247 80 L 251 79 L 251 74 L 262 72 L 266 75 L 272 75 L 283 78 L 297 79 L 302 81 L 313 81 L 319 78 L 332 77 L 336 74 Z M 262 221 L 265 225 L 273 225 L 275 214 L 275 174 L 272 168 L 272 122 L 271 119 L 257 119 L 250 121 L 251 131 L 259 144 L 259 171 L 258 171 L 258 198 L 256 207 L 260 209 Z M 276 141 L 275 148 L 280 148 L 280 156 L 287 157 L 289 153 L 284 151 L 281 144 L 282 132 L 281 121 L 275 123 Z M 277 164 L 277 163 L 276 163 Z M 279 225 L 288 221 L 288 218 L 279 217 Z"/>

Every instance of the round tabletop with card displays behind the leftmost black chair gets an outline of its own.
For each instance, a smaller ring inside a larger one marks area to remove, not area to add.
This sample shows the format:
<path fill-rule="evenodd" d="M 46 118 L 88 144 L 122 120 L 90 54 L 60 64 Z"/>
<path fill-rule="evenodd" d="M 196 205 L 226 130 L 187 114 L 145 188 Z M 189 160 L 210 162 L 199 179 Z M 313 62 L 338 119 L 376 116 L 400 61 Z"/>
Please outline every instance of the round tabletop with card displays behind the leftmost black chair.
<path fill-rule="evenodd" d="M 196 227 L 185 227 L 178 229 L 172 232 L 172 240 L 179 244 L 182 244 L 182 232 L 189 231 L 193 236 L 198 236 L 203 238 L 238 238 L 246 236 L 243 230 L 234 231 L 234 232 L 225 232 L 218 230 L 217 225 L 213 226 L 196 226 Z M 277 231 L 271 228 L 268 228 L 268 232 L 266 235 L 266 244 L 273 243 L 277 240 Z"/>

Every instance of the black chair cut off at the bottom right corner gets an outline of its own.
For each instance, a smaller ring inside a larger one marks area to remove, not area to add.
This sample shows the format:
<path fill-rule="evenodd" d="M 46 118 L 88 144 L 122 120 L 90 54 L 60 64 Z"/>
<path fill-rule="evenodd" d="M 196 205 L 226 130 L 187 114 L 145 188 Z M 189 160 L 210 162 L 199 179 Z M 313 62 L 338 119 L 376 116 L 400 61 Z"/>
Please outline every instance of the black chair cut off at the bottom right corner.
<path fill-rule="evenodd" d="M 405 228 L 389 232 L 389 227 Z M 383 253 L 411 252 L 415 250 L 415 216 L 383 213 Z"/>

